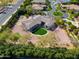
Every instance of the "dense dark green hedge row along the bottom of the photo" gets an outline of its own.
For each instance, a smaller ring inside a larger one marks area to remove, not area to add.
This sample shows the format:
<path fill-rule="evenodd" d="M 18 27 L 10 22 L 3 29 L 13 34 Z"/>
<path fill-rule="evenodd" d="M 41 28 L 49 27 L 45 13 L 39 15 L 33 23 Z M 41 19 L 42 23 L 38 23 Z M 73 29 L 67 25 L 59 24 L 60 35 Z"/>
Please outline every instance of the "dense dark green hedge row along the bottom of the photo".
<path fill-rule="evenodd" d="M 35 48 L 25 45 L 0 45 L 0 56 L 37 57 L 46 59 L 78 59 L 79 49 Z"/>

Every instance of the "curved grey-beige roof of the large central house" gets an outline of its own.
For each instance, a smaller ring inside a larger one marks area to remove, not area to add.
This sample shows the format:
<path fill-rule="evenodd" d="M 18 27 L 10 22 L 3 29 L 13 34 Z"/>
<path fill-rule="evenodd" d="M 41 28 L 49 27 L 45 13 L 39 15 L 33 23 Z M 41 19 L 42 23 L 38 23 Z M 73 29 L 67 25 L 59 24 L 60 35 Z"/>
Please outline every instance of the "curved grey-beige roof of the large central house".
<path fill-rule="evenodd" d="M 52 17 L 35 15 L 35 16 L 32 16 L 32 18 L 30 18 L 29 20 L 24 21 L 23 25 L 27 30 L 29 30 L 33 26 L 37 24 L 41 24 L 41 22 L 44 22 L 46 26 L 52 26 L 54 24 Z"/>

